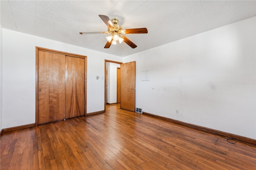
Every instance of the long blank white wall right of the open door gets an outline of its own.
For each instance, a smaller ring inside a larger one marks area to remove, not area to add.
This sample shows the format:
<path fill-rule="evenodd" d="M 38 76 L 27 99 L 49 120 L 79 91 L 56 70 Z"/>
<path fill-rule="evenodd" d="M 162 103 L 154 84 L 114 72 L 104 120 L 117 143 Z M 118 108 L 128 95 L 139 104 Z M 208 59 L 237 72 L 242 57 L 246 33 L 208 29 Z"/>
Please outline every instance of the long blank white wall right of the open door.
<path fill-rule="evenodd" d="M 256 139 L 255 25 L 253 17 L 125 57 L 136 61 L 136 107 Z"/>

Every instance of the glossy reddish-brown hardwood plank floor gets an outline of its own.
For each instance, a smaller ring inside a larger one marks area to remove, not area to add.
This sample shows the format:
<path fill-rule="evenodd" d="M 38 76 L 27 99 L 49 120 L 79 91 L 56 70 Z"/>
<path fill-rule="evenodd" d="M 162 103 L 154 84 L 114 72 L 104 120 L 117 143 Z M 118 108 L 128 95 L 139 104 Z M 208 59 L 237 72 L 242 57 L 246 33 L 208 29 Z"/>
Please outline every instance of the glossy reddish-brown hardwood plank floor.
<path fill-rule="evenodd" d="M 1 170 L 256 169 L 256 147 L 119 107 L 4 133 Z"/>

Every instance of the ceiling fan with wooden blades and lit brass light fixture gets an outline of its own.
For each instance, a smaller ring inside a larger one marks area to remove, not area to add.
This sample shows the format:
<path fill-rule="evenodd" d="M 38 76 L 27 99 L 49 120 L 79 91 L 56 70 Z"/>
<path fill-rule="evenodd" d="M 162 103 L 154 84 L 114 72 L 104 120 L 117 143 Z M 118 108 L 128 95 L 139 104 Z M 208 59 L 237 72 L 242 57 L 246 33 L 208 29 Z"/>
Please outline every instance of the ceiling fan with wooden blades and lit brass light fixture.
<path fill-rule="evenodd" d="M 104 48 L 109 48 L 111 44 L 116 44 L 118 41 L 122 43 L 123 41 L 128 44 L 133 49 L 137 47 L 132 41 L 130 41 L 127 37 L 121 34 L 137 34 L 137 33 L 148 33 L 148 29 L 146 28 L 134 28 L 134 29 L 123 29 L 120 25 L 117 25 L 118 19 L 113 18 L 110 20 L 108 16 L 99 15 L 99 17 L 104 21 L 104 23 L 108 26 L 108 31 L 106 32 L 81 32 L 80 34 L 111 34 L 110 36 L 106 37 L 108 40 Z"/>

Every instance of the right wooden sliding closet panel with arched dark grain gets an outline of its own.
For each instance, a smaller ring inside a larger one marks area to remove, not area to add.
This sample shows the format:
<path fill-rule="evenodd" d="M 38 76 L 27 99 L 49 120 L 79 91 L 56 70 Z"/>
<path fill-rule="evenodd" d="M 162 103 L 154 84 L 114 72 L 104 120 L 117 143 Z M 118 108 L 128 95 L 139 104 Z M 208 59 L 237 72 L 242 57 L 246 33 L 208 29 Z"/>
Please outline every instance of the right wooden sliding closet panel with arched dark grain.
<path fill-rule="evenodd" d="M 84 64 L 85 59 L 66 56 L 66 119 L 85 115 Z"/>

